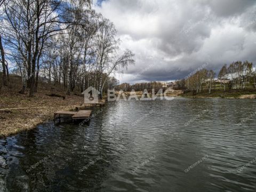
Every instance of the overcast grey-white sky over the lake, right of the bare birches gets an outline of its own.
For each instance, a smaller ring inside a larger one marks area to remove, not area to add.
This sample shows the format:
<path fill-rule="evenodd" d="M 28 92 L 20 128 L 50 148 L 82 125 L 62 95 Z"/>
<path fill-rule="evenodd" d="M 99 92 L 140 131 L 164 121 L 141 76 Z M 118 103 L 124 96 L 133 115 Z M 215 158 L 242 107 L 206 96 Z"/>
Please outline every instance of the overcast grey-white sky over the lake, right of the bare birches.
<path fill-rule="evenodd" d="M 96 1 L 96 0 L 95 0 Z M 255 0 L 98 0 L 94 8 L 114 22 L 121 49 L 135 65 L 121 83 L 172 81 L 206 65 L 256 64 Z"/>

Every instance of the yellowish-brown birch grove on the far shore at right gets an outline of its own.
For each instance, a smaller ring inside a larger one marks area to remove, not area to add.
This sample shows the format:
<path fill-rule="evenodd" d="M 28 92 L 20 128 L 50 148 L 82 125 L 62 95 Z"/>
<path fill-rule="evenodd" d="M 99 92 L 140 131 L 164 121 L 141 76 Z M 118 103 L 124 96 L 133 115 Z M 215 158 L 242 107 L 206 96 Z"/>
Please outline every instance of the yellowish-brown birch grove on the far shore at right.
<path fill-rule="evenodd" d="M 226 64 L 220 69 L 218 80 L 215 81 L 213 70 L 205 68 L 196 71 L 193 75 L 175 81 L 176 89 L 195 91 L 201 93 L 203 89 L 211 90 L 213 84 L 219 84 L 223 91 L 226 89 L 245 89 L 246 84 L 253 84 L 256 89 L 256 71 L 253 70 L 253 63 L 249 61 L 236 61 Z"/>

